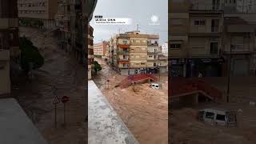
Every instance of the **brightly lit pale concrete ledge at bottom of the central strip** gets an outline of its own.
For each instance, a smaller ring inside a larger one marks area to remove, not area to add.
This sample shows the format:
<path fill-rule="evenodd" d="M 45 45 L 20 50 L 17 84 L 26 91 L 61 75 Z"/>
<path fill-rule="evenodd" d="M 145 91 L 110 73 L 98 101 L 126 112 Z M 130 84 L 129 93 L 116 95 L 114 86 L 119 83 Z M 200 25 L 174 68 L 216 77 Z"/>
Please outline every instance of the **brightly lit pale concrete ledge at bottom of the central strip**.
<path fill-rule="evenodd" d="M 138 144 L 93 81 L 88 82 L 88 143 Z"/>

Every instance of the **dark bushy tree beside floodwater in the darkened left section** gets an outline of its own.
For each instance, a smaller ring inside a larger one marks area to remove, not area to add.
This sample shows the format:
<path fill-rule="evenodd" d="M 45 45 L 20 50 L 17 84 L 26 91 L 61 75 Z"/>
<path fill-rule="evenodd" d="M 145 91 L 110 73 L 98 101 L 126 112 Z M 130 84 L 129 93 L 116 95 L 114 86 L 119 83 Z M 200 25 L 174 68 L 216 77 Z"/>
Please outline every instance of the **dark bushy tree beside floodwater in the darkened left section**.
<path fill-rule="evenodd" d="M 44 58 L 39 53 L 33 42 L 23 37 L 20 38 L 20 50 L 21 50 L 21 67 L 25 74 L 28 74 L 30 70 L 36 70 L 44 64 Z"/>

